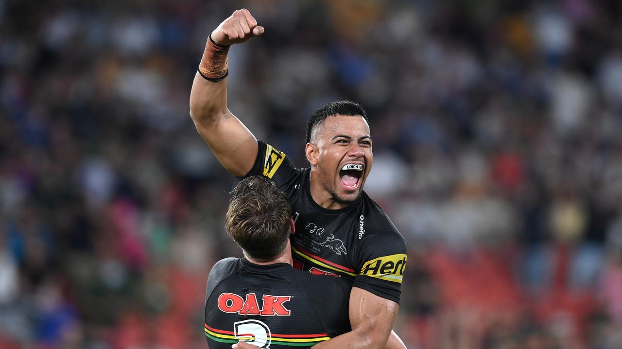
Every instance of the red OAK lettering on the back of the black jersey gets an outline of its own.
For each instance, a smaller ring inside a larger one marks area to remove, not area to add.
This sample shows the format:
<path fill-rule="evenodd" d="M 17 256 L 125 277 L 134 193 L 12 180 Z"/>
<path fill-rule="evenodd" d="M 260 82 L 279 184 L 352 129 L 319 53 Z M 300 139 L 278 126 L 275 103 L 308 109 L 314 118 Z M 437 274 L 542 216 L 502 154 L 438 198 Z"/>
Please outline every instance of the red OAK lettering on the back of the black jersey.
<path fill-rule="evenodd" d="M 263 304 L 259 307 L 257 296 L 254 293 L 246 295 L 243 299 L 237 294 L 225 292 L 218 296 L 218 309 L 229 314 L 238 313 L 240 315 L 261 315 L 261 316 L 287 316 L 291 312 L 283 305 L 290 301 L 292 296 L 270 296 L 264 294 Z"/>

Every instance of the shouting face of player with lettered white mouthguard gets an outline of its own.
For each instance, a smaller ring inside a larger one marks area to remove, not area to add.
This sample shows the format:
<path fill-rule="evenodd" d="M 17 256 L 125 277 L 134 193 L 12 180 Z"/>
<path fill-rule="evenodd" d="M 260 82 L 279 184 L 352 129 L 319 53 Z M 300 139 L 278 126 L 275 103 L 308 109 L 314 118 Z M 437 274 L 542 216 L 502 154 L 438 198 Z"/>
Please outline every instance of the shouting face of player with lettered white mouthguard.
<path fill-rule="evenodd" d="M 362 116 L 329 116 L 315 136 L 318 179 L 335 202 L 355 201 L 374 159 L 366 120 Z"/>

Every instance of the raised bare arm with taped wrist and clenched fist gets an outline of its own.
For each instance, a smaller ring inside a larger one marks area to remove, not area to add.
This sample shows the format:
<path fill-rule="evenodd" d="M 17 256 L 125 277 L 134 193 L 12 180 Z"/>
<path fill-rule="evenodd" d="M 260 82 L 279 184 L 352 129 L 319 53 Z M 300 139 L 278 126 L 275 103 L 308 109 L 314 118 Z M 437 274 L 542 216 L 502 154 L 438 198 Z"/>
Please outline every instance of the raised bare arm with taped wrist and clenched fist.
<path fill-rule="evenodd" d="M 210 146 L 218 161 L 234 176 L 244 176 L 253 166 L 257 156 L 254 135 L 227 108 L 227 79 L 208 79 L 200 71 L 208 66 L 222 68 L 226 63 L 216 61 L 210 52 L 233 43 L 242 43 L 263 34 L 263 27 L 246 9 L 236 10 L 211 33 L 199 71 L 190 92 L 190 117 L 198 133 Z M 210 45 L 212 45 L 210 47 Z M 210 51 L 211 48 L 211 51 Z M 222 56 L 218 57 L 223 58 Z M 226 58 L 226 56 L 225 56 Z M 219 81 L 215 81 L 219 80 Z"/>

